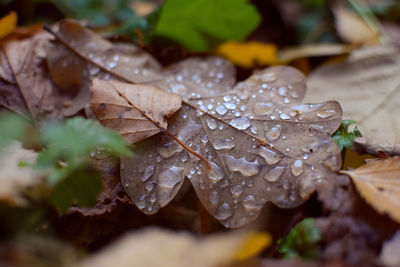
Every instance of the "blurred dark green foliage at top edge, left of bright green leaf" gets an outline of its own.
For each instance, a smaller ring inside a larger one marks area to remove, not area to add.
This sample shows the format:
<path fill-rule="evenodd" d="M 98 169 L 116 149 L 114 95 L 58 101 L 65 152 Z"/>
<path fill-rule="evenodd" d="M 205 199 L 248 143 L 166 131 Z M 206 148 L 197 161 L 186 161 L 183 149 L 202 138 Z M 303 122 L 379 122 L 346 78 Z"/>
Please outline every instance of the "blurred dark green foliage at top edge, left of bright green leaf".
<path fill-rule="evenodd" d="M 123 22 L 135 16 L 131 0 L 51 0 L 64 15 L 87 19 L 95 25 Z"/>

